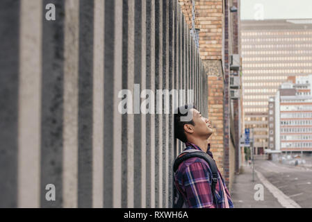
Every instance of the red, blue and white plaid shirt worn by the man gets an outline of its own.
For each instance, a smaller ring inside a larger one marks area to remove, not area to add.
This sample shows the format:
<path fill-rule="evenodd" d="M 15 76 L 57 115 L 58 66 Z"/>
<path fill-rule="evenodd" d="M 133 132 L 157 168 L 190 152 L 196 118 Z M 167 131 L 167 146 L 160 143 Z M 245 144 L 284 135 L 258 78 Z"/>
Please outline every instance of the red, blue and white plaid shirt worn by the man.
<path fill-rule="evenodd" d="M 186 148 L 197 149 L 201 148 L 195 144 L 186 143 Z M 213 157 L 210 147 L 208 146 L 207 153 Z M 227 195 L 229 208 L 233 208 L 233 202 L 229 194 L 229 190 L 224 183 L 219 169 L 217 184 L 215 185 L 215 196 L 217 205 L 213 203 L 213 195 L 211 193 L 211 182 L 213 175 L 208 163 L 199 157 L 192 157 L 179 165 L 178 170 L 174 175 L 174 185 L 183 196 L 184 203 L 190 208 L 227 208 L 224 195 Z M 223 189 L 224 188 L 224 189 Z M 226 194 L 224 194 L 224 191 Z"/>

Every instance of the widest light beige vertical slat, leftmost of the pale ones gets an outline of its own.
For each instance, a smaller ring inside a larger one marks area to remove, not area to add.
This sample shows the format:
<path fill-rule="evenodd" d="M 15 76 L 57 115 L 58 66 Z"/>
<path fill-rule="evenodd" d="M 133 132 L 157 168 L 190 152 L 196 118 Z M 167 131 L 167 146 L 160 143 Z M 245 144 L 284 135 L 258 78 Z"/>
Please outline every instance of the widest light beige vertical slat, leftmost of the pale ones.
<path fill-rule="evenodd" d="M 18 207 L 40 207 L 42 1 L 20 8 Z"/>

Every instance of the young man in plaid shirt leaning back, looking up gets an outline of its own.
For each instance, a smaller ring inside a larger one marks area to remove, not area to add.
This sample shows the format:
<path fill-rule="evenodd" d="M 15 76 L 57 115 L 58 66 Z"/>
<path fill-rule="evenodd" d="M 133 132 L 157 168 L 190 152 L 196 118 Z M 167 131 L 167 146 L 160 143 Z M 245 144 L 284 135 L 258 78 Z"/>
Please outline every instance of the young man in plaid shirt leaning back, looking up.
<path fill-rule="evenodd" d="M 181 112 L 183 110 L 183 112 Z M 188 112 L 186 113 L 186 110 Z M 190 121 L 185 121 L 186 115 L 192 114 Z M 183 119 L 183 121 L 181 121 Z M 195 149 L 208 153 L 208 138 L 212 135 L 211 122 L 202 117 L 194 106 L 184 105 L 174 113 L 174 136 L 186 144 L 184 151 Z M 217 169 L 217 183 L 215 185 L 215 201 L 211 191 L 212 172 L 208 162 L 201 157 L 190 157 L 179 164 L 174 174 L 174 186 L 179 195 L 183 196 L 183 206 L 190 208 L 232 208 L 231 196 Z"/>

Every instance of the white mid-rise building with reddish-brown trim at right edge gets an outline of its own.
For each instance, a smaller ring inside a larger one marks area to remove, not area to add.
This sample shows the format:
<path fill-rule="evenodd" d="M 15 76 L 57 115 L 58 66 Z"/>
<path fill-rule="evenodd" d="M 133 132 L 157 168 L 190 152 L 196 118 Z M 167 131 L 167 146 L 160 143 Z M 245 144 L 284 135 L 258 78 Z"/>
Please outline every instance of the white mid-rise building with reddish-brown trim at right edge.
<path fill-rule="evenodd" d="M 312 75 L 288 77 L 269 100 L 269 148 L 312 151 Z"/>

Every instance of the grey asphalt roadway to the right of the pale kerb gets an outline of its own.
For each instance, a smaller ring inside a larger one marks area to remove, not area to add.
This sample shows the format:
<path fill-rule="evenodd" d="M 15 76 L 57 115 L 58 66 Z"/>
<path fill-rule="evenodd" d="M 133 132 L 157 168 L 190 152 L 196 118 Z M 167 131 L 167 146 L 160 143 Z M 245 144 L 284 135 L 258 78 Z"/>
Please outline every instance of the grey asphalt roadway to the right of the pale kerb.
<path fill-rule="evenodd" d="M 298 205 L 312 208 L 311 169 L 292 167 L 268 160 L 255 160 L 255 169 Z"/>

